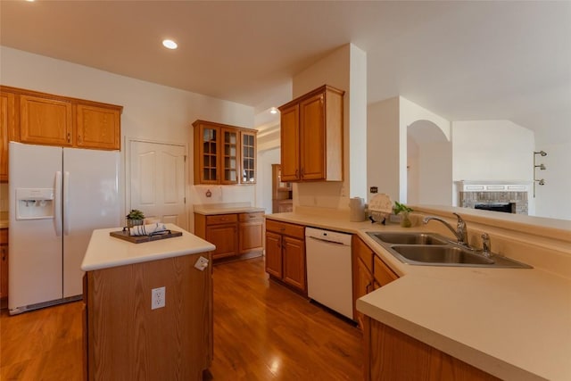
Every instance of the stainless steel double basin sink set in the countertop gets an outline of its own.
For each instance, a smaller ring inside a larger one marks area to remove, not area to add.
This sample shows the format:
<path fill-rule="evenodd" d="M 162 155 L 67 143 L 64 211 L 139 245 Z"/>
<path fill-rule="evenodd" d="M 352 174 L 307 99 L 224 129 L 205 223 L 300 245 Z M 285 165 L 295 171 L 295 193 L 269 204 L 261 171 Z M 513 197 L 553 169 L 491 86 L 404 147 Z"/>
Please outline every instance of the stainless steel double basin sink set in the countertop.
<path fill-rule="evenodd" d="M 434 233 L 367 232 L 378 244 L 403 263 L 425 266 L 462 266 L 531 269 L 532 267 L 501 255 L 489 258 L 476 249 L 454 244 Z"/>

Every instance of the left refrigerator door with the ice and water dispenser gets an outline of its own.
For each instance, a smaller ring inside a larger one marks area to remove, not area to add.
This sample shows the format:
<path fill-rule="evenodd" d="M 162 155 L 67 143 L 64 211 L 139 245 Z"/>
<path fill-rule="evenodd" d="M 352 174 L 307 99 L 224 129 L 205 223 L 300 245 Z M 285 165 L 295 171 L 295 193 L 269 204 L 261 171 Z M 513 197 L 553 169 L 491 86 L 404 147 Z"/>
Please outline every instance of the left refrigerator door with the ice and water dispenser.
<path fill-rule="evenodd" d="M 56 219 L 16 219 L 16 189 L 58 188 L 55 178 L 62 170 L 62 148 L 11 142 L 9 152 L 8 307 L 18 313 L 30 304 L 62 298 L 62 236 L 56 234 Z M 54 205 L 60 203 L 54 200 Z M 34 203 L 28 207 L 34 208 Z"/>

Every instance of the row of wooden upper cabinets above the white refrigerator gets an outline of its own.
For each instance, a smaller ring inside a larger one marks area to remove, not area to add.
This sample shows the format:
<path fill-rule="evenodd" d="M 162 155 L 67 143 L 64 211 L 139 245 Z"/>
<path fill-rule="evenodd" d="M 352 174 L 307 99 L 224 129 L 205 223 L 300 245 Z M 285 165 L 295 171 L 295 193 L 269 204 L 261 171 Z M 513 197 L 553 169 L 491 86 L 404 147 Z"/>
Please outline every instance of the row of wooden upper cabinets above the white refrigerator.
<path fill-rule="evenodd" d="M 8 115 L 9 140 L 120 150 L 122 106 L 7 86 L 0 86 L 0 94 L 3 123 Z"/>

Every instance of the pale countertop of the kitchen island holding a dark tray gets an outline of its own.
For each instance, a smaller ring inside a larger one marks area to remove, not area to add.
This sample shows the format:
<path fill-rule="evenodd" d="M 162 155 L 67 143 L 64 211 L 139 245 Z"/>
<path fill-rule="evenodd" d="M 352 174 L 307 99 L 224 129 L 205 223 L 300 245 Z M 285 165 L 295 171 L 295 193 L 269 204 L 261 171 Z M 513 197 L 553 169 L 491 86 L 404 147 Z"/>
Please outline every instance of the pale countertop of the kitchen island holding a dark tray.
<path fill-rule="evenodd" d="M 165 225 L 172 231 L 182 232 L 182 236 L 133 244 L 109 235 L 110 232 L 120 231 L 122 228 L 94 230 L 87 245 L 86 255 L 81 263 L 81 269 L 84 271 L 108 269 L 187 254 L 211 252 L 216 248 L 213 244 L 178 228 L 176 225 Z"/>

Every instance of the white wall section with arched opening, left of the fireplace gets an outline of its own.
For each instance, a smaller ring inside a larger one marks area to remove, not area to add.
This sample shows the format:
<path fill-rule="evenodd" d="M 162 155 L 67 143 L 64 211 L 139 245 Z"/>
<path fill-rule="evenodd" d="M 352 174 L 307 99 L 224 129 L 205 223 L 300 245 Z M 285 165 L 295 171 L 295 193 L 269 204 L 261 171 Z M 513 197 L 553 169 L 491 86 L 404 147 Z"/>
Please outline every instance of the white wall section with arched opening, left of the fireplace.
<path fill-rule="evenodd" d="M 427 133 L 422 132 L 426 125 L 430 127 Z M 411 145 L 416 151 L 410 156 L 409 130 L 420 131 L 416 133 L 416 145 Z M 369 104 L 368 186 L 378 186 L 379 193 L 401 203 L 450 204 L 449 137 L 449 120 L 406 98 L 395 96 Z M 407 169 L 409 164 L 412 168 Z M 410 189 L 409 178 L 415 189 Z M 409 195 L 413 200 L 408 200 Z"/>

